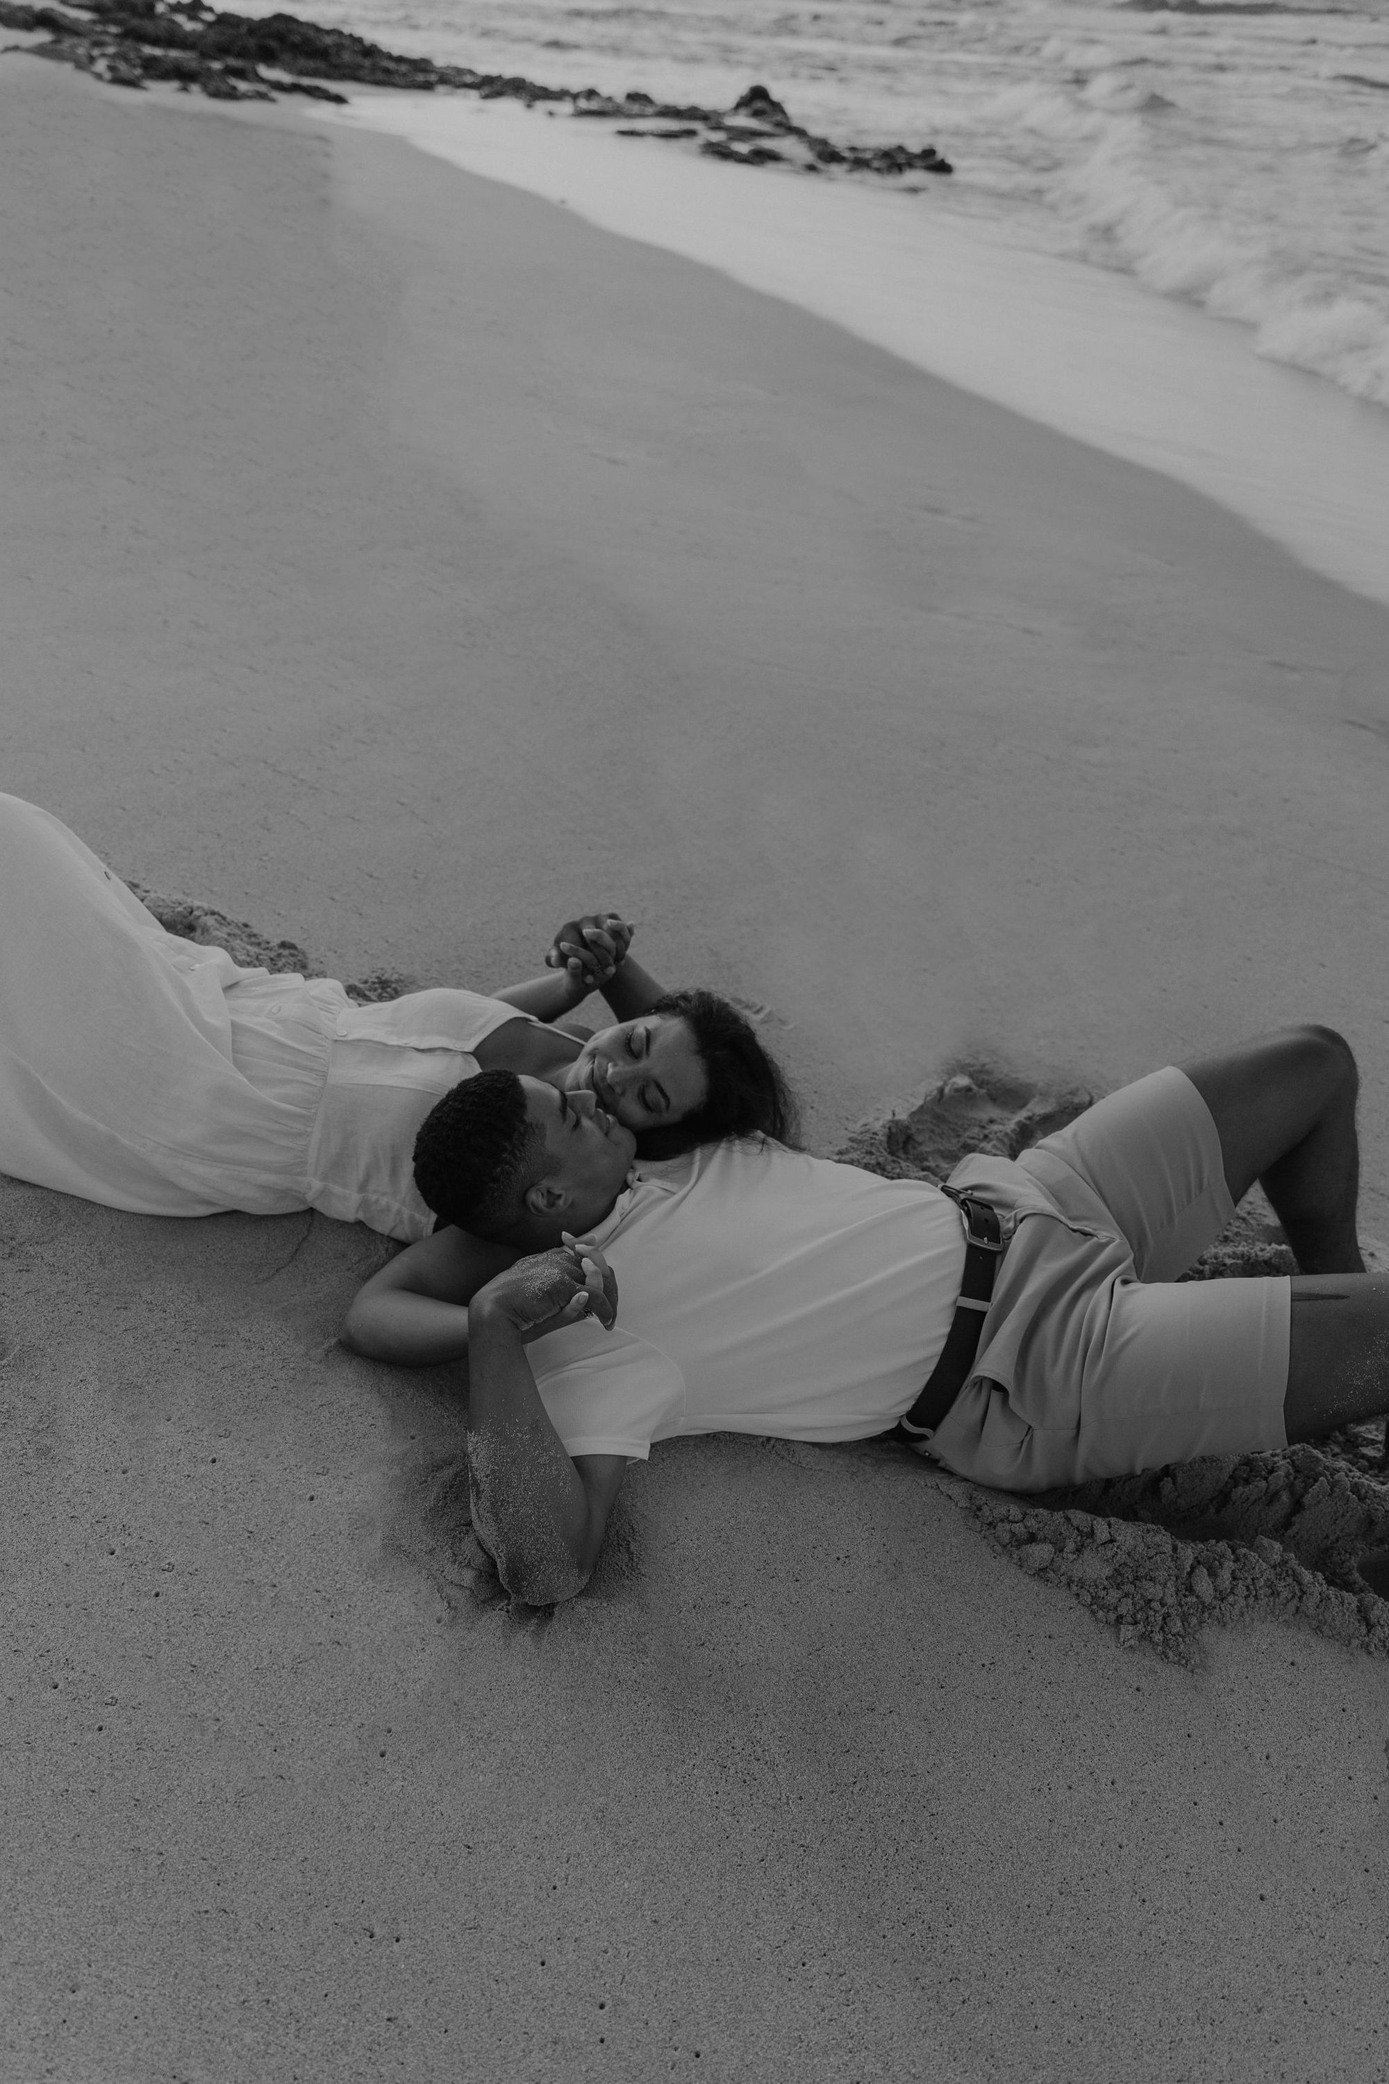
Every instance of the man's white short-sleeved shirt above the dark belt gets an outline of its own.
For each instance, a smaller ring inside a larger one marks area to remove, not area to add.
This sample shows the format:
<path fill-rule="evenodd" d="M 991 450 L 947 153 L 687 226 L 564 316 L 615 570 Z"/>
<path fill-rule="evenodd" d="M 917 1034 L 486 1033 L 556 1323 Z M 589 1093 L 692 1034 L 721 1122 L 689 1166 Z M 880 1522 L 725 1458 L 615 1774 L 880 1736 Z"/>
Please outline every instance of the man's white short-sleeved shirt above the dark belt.
<path fill-rule="evenodd" d="M 956 1205 L 771 1142 L 637 1165 L 602 1246 L 612 1332 L 577 1323 L 527 1353 L 571 1455 L 652 1440 L 887 1432 L 935 1367 L 964 1269 Z"/>

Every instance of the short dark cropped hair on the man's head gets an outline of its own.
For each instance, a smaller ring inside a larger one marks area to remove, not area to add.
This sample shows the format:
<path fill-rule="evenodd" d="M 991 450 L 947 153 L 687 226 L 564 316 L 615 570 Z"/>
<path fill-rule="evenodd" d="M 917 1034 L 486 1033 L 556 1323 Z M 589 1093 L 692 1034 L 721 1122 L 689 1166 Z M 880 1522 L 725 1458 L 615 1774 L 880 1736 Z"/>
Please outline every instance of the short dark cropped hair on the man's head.
<path fill-rule="evenodd" d="M 431 1107 L 414 1138 L 414 1184 L 439 1217 L 491 1238 L 521 1215 L 546 1148 L 514 1071 L 479 1071 Z"/>

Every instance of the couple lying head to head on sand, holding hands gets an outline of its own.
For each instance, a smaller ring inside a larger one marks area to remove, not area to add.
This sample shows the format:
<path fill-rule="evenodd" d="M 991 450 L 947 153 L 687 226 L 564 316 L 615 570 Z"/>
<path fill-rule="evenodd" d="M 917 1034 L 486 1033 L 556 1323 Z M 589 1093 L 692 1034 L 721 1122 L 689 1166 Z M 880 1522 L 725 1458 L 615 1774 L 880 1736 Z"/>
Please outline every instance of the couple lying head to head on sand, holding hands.
<path fill-rule="evenodd" d="M 1356 1242 L 1356 1063 L 1306 1025 L 1168 1065 L 943 1188 L 793 1148 L 752 1027 L 614 915 L 489 998 L 356 1007 L 165 934 L 0 798 L 0 1169 L 162 1215 L 314 1207 L 406 1248 L 364 1355 L 469 1359 L 475 1525 L 529 1603 L 591 1573 L 656 1440 L 906 1436 L 1050 1490 L 1389 1407 Z M 616 1019 L 575 1034 L 598 984 Z M 1262 1182 L 1299 1275 L 1181 1282 Z"/>

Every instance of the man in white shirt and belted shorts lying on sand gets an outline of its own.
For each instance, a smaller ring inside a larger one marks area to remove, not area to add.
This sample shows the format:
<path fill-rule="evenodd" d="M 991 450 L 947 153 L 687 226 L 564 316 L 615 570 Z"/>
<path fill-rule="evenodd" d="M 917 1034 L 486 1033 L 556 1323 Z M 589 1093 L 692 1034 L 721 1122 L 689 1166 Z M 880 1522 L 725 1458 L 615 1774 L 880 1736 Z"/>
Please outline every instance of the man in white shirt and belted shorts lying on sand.
<path fill-rule="evenodd" d="M 1291 1027 L 939 1190 L 771 1140 L 633 1163 L 591 1094 L 494 1071 L 416 1144 L 456 1227 L 367 1282 L 346 1332 L 383 1361 L 469 1357 L 475 1528 L 535 1605 L 579 1592 L 627 1463 L 677 1434 L 858 1440 L 910 1413 L 925 1453 L 1004 1490 L 1281 1448 L 1389 1405 L 1356 1088 L 1341 1036 Z M 1302 1273 L 1179 1284 L 1256 1180 Z"/>

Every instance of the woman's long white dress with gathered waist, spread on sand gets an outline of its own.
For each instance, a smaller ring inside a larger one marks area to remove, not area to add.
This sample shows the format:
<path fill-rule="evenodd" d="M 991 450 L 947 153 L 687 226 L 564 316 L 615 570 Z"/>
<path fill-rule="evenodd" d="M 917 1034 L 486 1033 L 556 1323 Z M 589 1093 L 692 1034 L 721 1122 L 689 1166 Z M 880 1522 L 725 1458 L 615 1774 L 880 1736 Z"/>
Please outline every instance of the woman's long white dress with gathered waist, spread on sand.
<path fill-rule="evenodd" d="M 477 992 L 358 1007 L 167 934 L 48 811 L 0 794 L 0 1171 L 144 1215 L 321 1209 L 423 1238 L 414 1134 L 527 1019 Z"/>

